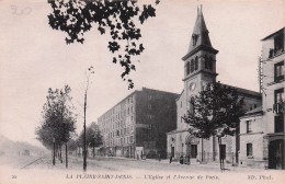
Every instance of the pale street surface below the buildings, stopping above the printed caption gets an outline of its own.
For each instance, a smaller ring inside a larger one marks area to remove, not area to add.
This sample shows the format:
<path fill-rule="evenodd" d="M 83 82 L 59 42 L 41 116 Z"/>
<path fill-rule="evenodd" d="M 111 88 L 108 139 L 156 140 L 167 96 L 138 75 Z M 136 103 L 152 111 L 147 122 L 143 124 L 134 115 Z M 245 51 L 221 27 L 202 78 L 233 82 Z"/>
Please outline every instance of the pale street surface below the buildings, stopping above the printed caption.
<path fill-rule="evenodd" d="M 82 170 L 83 159 L 82 157 L 69 157 L 68 158 L 68 170 Z M 92 171 L 179 171 L 179 172 L 220 172 L 219 163 L 206 163 L 200 164 L 198 162 L 192 162 L 190 165 L 180 164 L 179 162 L 169 163 L 169 160 L 136 160 L 129 158 L 118 158 L 118 157 L 95 157 L 88 158 L 88 170 Z M 56 165 L 52 164 L 52 158 L 44 158 L 36 163 L 33 163 L 27 166 L 31 168 L 41 168 L 41 169 L 66 169 L 65 158 L 61 163 L 59 160 L 56 160 Z M 254 168 L 240 168 L 232 166 L 231 164 L 225 164 L 225 172 L 246 172 L 246 171 L 264 171 L 264 169 L 254 169 Z"/>

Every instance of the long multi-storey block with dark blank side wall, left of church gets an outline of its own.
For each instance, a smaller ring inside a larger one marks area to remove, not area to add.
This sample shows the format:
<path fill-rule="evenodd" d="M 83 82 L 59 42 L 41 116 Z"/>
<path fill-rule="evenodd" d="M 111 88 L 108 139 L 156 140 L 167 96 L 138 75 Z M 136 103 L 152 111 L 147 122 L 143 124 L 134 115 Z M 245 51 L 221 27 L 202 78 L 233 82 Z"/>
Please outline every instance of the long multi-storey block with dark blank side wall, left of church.
<path fill-rule="evenodd" d="M 98 118 L 100 153 L 128 158 L 166 158 L 166 133 L 175 129 L 178 94 L 142 88 Z"/>

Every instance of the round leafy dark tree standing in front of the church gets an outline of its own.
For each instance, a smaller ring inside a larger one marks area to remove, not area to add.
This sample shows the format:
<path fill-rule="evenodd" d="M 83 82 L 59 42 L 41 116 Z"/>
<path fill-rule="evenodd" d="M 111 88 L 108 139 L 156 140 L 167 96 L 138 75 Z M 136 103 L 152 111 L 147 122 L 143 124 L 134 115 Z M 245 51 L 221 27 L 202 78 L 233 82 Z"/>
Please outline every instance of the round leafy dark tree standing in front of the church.
<path fill-rule="evenodd" d="M 193 97 L 191 104 L 191 111 L 182 117 L 191 126 L 189 131 L 202 140 L 218 137 L 220 152 L 221 137 L 237 134 L 244 113 L 243 97 L 237 89 L 214 82 Z M 219 158 L 223 169 L 224 160 L 221 156 Z"/>

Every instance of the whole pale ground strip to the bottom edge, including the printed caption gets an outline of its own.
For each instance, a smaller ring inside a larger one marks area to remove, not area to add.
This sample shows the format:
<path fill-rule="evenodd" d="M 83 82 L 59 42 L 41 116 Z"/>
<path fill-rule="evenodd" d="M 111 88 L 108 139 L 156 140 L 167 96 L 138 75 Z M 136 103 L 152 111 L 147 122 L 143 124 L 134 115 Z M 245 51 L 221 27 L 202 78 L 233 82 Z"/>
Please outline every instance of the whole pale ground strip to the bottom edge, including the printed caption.
<path fill-rule="evenodd" d="M 275 184 L 284 181 L 283 172 L 264 169 L 240 168 L 226 164 L 221 172 L 219 163 L 200 164 L 192 162 L 190 165 L 179 162 L 169 163 L 169 160 L 135 160 L 115 157 L 88 158 L 87 172 L 83 172 L 83 158 L 69 157 L 66 169 L 65 157 L 62 163 L 56 159 L 53 165 L 50 154 L 42 158 L 19 158 L 19 165 L 11 168 L 11 163 L 2 162 L 0 183 L 231 183 L 232 179 L 239 183 Z M 25 163 L 24 163 L 25 162 Z M 252 183 L 254 181 L 255 183 Z M 15 184 L 18 184 L 15 183 Z M 284 183 L 284 182 L 283 182 Z"/>

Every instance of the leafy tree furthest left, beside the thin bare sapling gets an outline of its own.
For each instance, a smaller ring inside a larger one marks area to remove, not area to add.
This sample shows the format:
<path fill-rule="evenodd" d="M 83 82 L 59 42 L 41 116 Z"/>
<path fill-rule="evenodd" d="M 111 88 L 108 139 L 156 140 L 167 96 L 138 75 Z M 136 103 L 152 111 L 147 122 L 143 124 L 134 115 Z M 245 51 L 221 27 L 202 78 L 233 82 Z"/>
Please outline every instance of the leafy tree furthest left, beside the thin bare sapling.
<path fill-rule="evenodd" d="M 66 166 L 67 142 L 70 139 L 70 133 L 73 133 L 76 129 L 76 115 L 72 113 L 73 106 L 70 104 L 70 92 L 69 85 L 65 85 L 64 90 L 48 89 L 47 101 L 42 111 L 42 122 L 36 127 L 37 139 L 48 149 L 56 145 L 61 162 L 61 146 L 66 145 Z"/>

